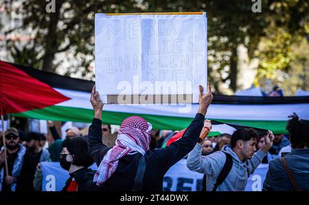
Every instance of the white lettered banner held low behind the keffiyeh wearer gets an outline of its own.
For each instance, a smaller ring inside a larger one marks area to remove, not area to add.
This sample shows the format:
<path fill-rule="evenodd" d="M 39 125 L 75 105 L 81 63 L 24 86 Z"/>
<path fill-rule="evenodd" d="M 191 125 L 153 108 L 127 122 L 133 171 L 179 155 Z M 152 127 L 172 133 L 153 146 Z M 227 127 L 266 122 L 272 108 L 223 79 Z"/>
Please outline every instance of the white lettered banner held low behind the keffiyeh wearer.
<path fill-rule="evenodd" d="M 172 166 L 163 178 L 163 191 L 200 191 L 203 174 L 190 171 L 187 160 L 180 160 Z M 61 191 L 69 178 L 69 173 L 61 168 L 59 162 L 42 162 L 42 191 Z M 91 169 L 98 167 L 93 164 Z M 268 164 L 260 164 L 250 175 L 244 191 L 262 191 Z"/>

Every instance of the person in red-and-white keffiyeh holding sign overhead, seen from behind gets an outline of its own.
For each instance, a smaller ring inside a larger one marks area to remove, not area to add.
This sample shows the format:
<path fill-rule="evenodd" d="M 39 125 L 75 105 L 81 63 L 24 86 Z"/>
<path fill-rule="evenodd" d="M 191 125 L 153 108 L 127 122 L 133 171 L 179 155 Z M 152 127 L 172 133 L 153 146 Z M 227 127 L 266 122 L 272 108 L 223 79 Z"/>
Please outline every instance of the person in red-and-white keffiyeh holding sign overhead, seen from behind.
<path fill-rule="evenodd" d="M 90 102 L 94 117 L 88 143 L 89 152 L 98 165 L 94 182 L 104 186 L 106 191 L 162 191 L 163 176 L 194 148 L 203 129 L 207 108 L 214 97 L 209 83 L 206 94 L 201 85 L 199 92 L 198 112 L 183 137 L 166 148 L 150 150 L 152 125 L 139 116 L 131 116 L 122 122 L 113 148 L 102 143 L 103 103 L 93 87 Z"/>

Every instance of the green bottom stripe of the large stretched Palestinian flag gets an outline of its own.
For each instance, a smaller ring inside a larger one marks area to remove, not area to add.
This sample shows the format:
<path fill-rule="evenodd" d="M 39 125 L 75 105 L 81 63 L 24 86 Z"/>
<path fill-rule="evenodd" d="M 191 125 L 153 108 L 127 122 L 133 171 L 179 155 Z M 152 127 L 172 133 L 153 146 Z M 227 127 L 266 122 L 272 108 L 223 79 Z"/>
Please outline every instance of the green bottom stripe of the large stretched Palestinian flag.
<path fill-rule="evenodd" d="M 25 111 L 20 114 L 12 114 L 18 117 L 35 118 L 41 120 L 54 121 L 72 121 L 72 122 L 91 122 L 93 119 L 92 109 L 82 109 L 75 107 L 51 106 L 43 109 L 34 109 L 32 111 Z M 181 115 L 181 114 L 180 114 Z M 154 129 L 172 129 L 181 130 L 190 125 L 193 118 L 181 118 L 174 116 L 156 116 L 150 114 L 132 114 L 116 111 L 102 112 L 102 121 L 106 124 L 120 125 L 122 120 L 130 116 L 141 116 L 152 124 Z M 270 129 L 273 133 L 286 133 L 286 121 L 258 121 L 258 120 L 218 120 L 224 123 L 233 123 L 236 125 L 245 125 L 249 127 L 256 127 L 260 129 Z M 218 133 L 209 133 L 213 136 Z"/>

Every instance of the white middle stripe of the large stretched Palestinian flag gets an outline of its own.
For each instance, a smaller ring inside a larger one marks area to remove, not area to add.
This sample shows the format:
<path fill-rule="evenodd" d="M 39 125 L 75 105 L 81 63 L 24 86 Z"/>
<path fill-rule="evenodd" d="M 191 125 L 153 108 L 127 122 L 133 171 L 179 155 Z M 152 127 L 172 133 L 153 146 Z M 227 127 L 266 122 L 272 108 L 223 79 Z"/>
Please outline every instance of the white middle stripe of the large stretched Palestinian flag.
<path fill-rule="evenodd" d="M 90 93 L 58 89 L 58 92 L 71 98 L 58 106 L 92 109 L 89 102 Z M 179 112 L 185 105 L 104 105 L 105 111 L 117 111 L 132 114 L 150 114 L 155 116 L 174 116 L 194 118 L 198 105 L 192 106 L 187 113 Z M 219 120 L 288 120 L 288 116 L 296 112 L 299 118 L 309 120 L 309 103 L 307 104 L 281 104 L 281 105 L 225 105 L 211 104 L 207 110 L 206 118 Z"/>

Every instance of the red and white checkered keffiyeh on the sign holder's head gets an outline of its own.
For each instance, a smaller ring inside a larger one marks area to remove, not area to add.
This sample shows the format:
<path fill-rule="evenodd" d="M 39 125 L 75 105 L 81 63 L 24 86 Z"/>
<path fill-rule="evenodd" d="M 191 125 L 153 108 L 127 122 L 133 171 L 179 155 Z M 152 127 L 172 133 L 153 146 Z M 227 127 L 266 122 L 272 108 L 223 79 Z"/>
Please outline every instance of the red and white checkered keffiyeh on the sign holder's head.
<path fill-rule="evenodd" d="M 93 182 L 97 185 L 104 183 L 116 171 L 120 158 L 131 151 L 137 151 L 145 155 L 150 144 L 150 130 L 152 125 L 144 118 L 131 116 L 126 118 L 120 126 L 114 147 L 104 155 Z"/>

